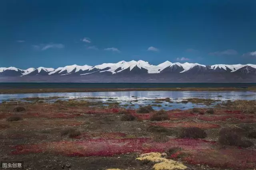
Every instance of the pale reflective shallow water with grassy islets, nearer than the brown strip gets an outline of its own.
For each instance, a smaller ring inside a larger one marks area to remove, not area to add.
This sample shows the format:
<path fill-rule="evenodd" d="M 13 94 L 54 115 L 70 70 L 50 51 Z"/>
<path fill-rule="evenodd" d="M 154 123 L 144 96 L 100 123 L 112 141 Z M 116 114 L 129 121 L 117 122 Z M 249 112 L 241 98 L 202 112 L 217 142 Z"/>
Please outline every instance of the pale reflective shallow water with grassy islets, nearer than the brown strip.
<path fill-rule="evenodd" d="M 202 104 L 192 103 L 176 103 L 187 98 L 204 98 L 214 100 L 256 100 L 256 92 L 252 91 L 222 91 L 222 92 L 210 92 L 210 91 L 128 91 L 128 92 L 72 92 L 72 93 L 29 93 L 29 94 L 0 94 L 0 102 L 10 99 L 22 99 L 22 98 L 47 98 L 47 97 L 63 97 L 59 100 L 68 100 L 70 98 L 83 98 L 83 97 L 100 97 L 102 99 L 82 99 L 89 101 L 103 101 L 109 102 L 109 98 L 114 98 L 111 102 L 119 102 L 120 105 L 134 104 L 134 106 L 128 108 L 138 108 L 141 105 L 157 104 L 161 107 L 153 106 L 154 109 L 190 109 L 193 107 L 206 107 Z M 220 97 L 221 96 L 221 97 Z M 68 97 L 68 98 L 64 98 Z M 152 103 L 154 101 L 148 99 L 156 98 L 170 98 L 172 102 Z M 134 101 L 138 100 L 138 101 Z M 55 100 L 48 100 L 48 102 L 54 102 Z M 216 102 L 216 104 L 221 102 Z M 168 106 L 165 106 L 168 105 Z"/>

